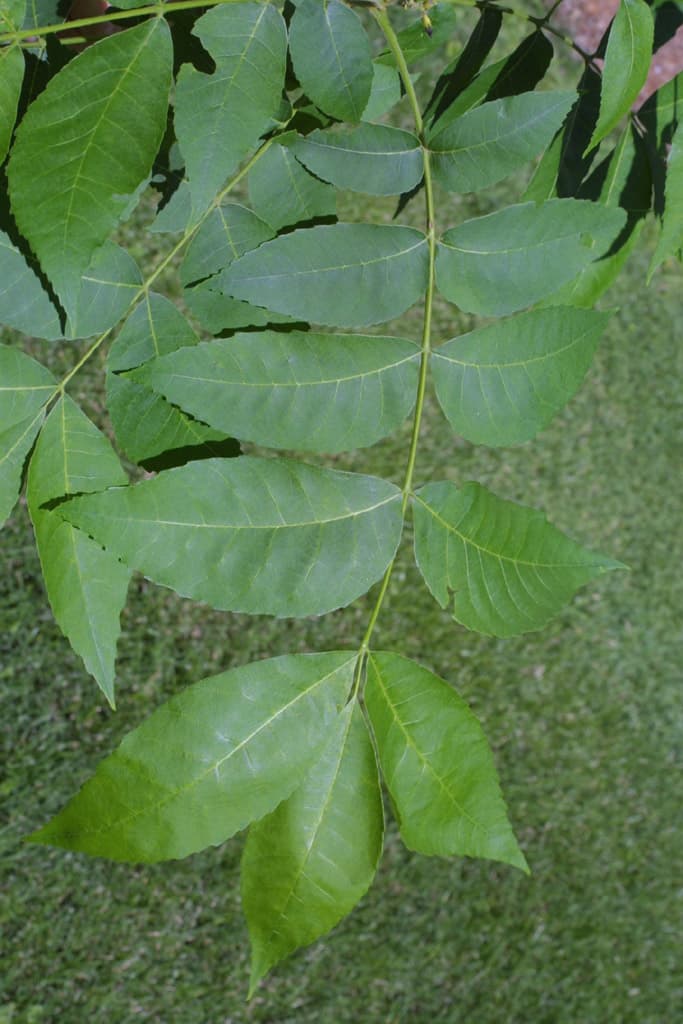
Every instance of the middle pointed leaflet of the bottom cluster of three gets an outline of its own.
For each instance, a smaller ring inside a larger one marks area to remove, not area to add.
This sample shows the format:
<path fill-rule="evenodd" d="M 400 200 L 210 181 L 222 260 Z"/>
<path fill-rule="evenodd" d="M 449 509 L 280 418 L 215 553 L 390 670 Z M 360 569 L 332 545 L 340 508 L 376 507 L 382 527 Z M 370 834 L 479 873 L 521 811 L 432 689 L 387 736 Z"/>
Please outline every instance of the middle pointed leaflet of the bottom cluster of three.
<path fill-rule="evenodd" d="M 299 787 L 249 829 L 242 903 L 252 944 L 250 996 L 274 964 L 353 909 L 372 885 L 383 831 L 375 752 L 354 700 Z"/>

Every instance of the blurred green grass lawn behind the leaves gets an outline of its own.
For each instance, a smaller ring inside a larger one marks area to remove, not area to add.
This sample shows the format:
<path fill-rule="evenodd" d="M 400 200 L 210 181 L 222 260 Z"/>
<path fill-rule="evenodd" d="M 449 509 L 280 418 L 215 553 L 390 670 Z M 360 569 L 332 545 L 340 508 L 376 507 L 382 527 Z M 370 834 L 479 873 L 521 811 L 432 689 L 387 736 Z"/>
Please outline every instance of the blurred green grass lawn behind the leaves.
<path fill-rule="evenodd" d="M 439 210 L 453 221 L 502 195 L 441 197 Z M 401 219 L 421 217 L 419 206 Z M 346 198 L 342 212 L 369 209 Z M 142 236 L 130 241 L 142 251 Z M 644 286 L 648 245 L 608 297 L 620 311 L 586 386 L 549 430 L 520 449 L 475 449 L 430 398 L 418 463 L 419 480 L 479 479 L 544 508 L 632 572 L 586 588 L 543 633 L 497 641 L 439 611 L 411 564 L 409 530 L 375 638 L 449 679 L 482 720 L 531 878 L 415 856 L 390 822 L 358 909 L 247 1006 L 240 839 L 153 867 L 23 846 L 152 708 L 233 665 L 352 646 L 372 595 L 324 620 L 276 622 L 136 579 L 112 715 L 51 621 L 22 507 L 3 534 L 0 577 L 0 1024 L 680 1019 L 683 316 L 680 268 Z M 437 340 L 470 327 L 439 302 Z M 419 333 L 419 314 L 392 329 Z M 58 349 L 33 351 L 70 365 Z M 72 393 L 102 422 L 96 371 Z M 336 464 L 399 478 L 408 434 Z"/>

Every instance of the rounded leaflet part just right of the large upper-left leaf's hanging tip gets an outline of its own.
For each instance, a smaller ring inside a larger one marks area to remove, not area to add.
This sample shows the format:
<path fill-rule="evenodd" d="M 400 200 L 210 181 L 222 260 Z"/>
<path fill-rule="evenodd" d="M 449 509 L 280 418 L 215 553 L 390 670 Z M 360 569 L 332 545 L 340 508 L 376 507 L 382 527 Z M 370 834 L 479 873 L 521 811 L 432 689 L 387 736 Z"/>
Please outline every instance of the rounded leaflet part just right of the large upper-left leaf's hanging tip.
<path fill-rule="evenodd" d="M 140 294 L 142 274 L 125 249 L 105 242 L 81 278 L 69 318 L 67 337 L 89 338 L 109 331 Z"/>

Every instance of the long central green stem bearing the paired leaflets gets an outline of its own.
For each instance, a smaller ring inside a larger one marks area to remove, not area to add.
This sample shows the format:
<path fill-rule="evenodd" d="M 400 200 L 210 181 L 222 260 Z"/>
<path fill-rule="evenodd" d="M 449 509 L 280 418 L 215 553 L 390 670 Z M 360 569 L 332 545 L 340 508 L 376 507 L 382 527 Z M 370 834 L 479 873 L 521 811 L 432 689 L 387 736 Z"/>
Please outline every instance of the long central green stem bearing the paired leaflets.
<path fill-rule="evenodd" d="M 417 129 L 420 142 L 422 144 L 422 158 L 424 165 L 424 184 L 425 184 L 425 207 L 426 207 L 426 220 L 427 220 L 427 243 L 429 246 L 429 269 L 427 276 L 427 289 L 425 292 L 425 306 L 424 306 L 424 317 L 422 323 L 422 343 L 421 343 L 421 357 L 420 357 L 420 373 L 418 377 L 418 389 L 417 396 L 415 400 L 415 415 L 413 417 L 413 430 L 411 434 L 411 445 L 408 453 L 408 462 L 405 465 L 405 473 L 403 475 L 403 485 L 401 487 L 402 499 L 401 499 L 401 517 L 402 522 L 405 522 L 405 512 L 408 510 L 408 503 L 411 498 L 412 487 L 413 487 L 413 475 L 415 472 L 415 464 L 418 456 L 418 444 L 420 440 L 420 427 L 422 425 L 422 414 L 424 411 L 425 403 L 425 392 L 427 389 L 427 373 L 429 370 L 429 355 L 431 352 L 431 321 L 432 321 L 432 305 L 434 301 L 434 266 L 436 261 L 436 228 L 435 228 L 435 210 L 434 210 L 434 188 L 432 183 L 431 175 L 431 164 L 430 164 L 430 152 L 425 145 L 424 140 L 424 123 L 422 120 L 422 112 L 420 111 L 420 104 L 418 102 L 418 97 L 411 80 L 411 75 L 408 70 L 408 65 L 405 63 L 405 57 L 400 48 L 400 43 L 396 38 L 396 34 L 393 31 L 391 23 L 385 11 L 374 11 L 373 12 L 378 25 L 380 26 L 384 37 L 389 45 L 391 52 L 396 60 L 396 67 L 398 68 L 398 73 L 402 79 L 403 86 L 405 88 L 405 93 L 411 104 L 411 110 L 413 112 L 413 118 L 415 120 L 415 127 Z M 368 628 L 364 634 L 362 640 L 360 641 L 360 646 L 358 648 L 358 658 L 356 660 L 355 674 L 353 678 L 353 694 L 357 694 L 360 688 L 365 663 L 368 656 L 368 651 L 370 649 L 370 640 L 377 625 L 377 620 L 379 618 L 380 611 L 382 610 L 382 605 L 384 603 L 384 598 L 389 587 L 389 581 L 391 580 L 391 574 L 393 572 L 396 563 L 396 555 L 393 556 L 389 565 L 382 579 L 382 584 L 380 586 L 379 594 L 375 601 L 375 605 L 370 615 L 368 622 Z"/>

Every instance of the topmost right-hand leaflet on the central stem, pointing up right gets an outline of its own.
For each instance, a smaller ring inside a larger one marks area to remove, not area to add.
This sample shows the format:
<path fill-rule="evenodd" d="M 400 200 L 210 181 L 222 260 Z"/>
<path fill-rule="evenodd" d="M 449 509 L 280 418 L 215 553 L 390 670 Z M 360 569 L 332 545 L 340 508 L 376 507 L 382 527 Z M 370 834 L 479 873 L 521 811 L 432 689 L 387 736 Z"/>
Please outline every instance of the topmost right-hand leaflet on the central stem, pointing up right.
<path fill-rule="evenodd" d="M 436 180 L 476 191 L 538 156 L 560 128 L 575 92 L 524 92 L 483 103 L 430 134 Z"/>

